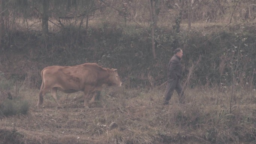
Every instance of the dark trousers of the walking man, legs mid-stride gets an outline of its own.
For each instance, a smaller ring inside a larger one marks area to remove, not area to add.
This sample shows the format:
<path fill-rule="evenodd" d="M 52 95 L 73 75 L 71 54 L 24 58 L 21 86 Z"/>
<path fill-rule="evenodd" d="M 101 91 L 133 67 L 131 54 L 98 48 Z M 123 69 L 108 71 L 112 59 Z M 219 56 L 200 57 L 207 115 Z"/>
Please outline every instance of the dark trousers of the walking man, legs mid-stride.
<path fill-rule="evenodd" d="M 180 84 L 180 79 L 168 79 L 164 104 L 169 104 L 169 101 L 171 99 L 171 96 L 173 95 L 174 90 L 176 90 L 176 92 L 179 95 L 179 102 L 184 103 L 185 98 L 182 90 L 182 85 Z"/>

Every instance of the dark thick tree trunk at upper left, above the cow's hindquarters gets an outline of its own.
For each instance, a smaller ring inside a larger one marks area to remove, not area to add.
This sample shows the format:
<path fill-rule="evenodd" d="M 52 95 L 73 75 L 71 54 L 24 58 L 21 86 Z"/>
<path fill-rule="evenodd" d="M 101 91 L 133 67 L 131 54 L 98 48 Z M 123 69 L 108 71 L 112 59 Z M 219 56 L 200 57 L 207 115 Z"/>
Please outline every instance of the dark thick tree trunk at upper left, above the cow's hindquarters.
<path fill-rule="evenodd" d="M 48 19 L 49 19 L 49 1 L 43 0 L 42 33 L 46 41 L 47 41 L 47 34 L 48 34 Z"/>

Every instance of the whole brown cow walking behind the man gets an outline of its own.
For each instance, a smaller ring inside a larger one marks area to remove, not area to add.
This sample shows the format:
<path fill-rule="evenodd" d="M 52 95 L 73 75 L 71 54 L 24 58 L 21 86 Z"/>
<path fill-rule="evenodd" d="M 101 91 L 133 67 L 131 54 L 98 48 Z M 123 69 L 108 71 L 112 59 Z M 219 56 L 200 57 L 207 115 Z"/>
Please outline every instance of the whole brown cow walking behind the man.
<path fill-rule="evenodd" d="M 37 107 L 43 104 L 43 96 L 51 89 L 52 97 L 61 107 L 57 99 L 57 90 L 64 93 L 84 92 L 84 106 L 88 107 L 87 98 L 92 94 L 93 102 L 96 90 L 101 90 L 103 85 L 121 86 L 116 69 L 103 68 L 95 63 L 85 63 L 76 66 L 49 66 L 41 71 L 42 86 L 39 92 Z"/>

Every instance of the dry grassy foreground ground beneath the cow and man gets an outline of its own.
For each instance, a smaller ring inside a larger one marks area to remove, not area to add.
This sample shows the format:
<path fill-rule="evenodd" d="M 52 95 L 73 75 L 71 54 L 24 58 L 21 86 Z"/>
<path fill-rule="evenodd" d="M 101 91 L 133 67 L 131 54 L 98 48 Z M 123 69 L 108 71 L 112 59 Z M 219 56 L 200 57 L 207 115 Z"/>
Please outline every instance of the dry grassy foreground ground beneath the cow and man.
<path fill-rule="evenodd" d="M 164 91 L 165 86 L 105 88 L 90 108 L 82 107 L 81 92 L 58 92 L 64 108 L 57 108 L 48 93 L 39 109 L 39 90 L 21 86 L 12 95 L 27 99 L 29 111 L 1 117 L 0 144 L 255 143 L 255 91 L 236 91 L 231 113 L 228 88 L 188 89 L 184 105 L 174 92 L 167 106 Z"/>

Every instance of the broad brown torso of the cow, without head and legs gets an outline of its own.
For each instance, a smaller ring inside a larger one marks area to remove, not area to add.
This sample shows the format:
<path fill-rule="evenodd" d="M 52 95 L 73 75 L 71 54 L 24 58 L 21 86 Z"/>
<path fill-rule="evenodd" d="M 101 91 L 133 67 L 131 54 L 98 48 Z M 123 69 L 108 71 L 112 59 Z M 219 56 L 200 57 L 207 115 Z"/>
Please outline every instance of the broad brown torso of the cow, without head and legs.
<path fill-rule="evenodd" d="M 65 67 L 55 65 L 44 68 L 42 77 L 51 87 L 82 91 L 85 85 L 97 84 L 98 73 L 103 69 L 97 64 L 90 63 Z"/>

